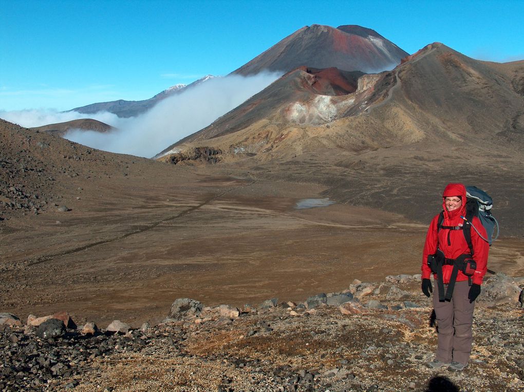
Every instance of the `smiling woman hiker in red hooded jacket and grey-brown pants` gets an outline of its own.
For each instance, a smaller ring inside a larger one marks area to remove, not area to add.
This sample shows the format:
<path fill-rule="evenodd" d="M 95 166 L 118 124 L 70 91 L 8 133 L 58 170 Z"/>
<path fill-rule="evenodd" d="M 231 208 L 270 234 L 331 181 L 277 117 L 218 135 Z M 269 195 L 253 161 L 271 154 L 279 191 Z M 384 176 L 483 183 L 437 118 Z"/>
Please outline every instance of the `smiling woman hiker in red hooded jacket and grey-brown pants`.
<path fill-rule="evenodd" d="M 438 330 L 436 357 L 428 366 L 461 371 L 471 354 L 473 310 L 487 270 L 489 244 L 481 238 L 487 238 L 481 221 L 476 216 L 471 219 L 474 230 L 464 219 L 464 185 L 447 184 L 442 197 L 444 211 L 431 221 L 422 257 L 422 292 L 427 297 L 433 292 Z M 471 245 L 466 231 L 471 233 Z"/>

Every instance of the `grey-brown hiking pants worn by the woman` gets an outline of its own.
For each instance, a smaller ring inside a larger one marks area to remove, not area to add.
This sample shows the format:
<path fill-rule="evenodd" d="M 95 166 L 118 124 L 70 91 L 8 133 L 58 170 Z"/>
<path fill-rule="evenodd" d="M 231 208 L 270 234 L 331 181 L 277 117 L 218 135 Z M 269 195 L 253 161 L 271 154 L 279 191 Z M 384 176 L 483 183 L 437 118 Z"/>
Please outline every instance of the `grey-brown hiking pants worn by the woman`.
<path fill-rule="evenodd" d="M 444 285 L 447 290 L 447 285 Z M 451 301 L 439 301 L 439 288 L 434 284 L 433 307 L 438 328 L 436 358 L 450 363 L 467 363 L 473 343 L 472 323 L 475 301 L 467 298 L 470 286 L 467 280 L 455 283 Z"/>

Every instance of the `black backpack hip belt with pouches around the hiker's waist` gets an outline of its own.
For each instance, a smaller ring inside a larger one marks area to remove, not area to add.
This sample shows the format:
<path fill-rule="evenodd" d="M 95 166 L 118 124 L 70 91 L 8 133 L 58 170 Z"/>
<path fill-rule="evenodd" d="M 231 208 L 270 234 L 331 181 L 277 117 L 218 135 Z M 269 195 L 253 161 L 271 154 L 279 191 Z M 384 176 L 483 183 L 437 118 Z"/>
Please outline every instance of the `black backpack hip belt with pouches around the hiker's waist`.
<path fill-rule="evenodd" d="M 428 266 L 431 271 L 436 274 L 436 283 L 439 288 L 439 301 L 451 301 L 453 296 L 453 289 L 455 288 L 455 282 L 459 271 L 462 271 L 464 275 L 468 277 L 468 282 L 471 286 L 471 276 L 477 269 L 477 263 L 472 258 L 471 254 L 460 255 L 459 257 L 447 258 L 444 256 L 444 252 L 440 249 L 436 250 L 434 255 L 428 255 Z M 453 270 L 451 271 L 450 282 L 447 284 L 447 290 L 444 294 L 444 277 L 442 273 L 443 265 L 452 265 Z"/>

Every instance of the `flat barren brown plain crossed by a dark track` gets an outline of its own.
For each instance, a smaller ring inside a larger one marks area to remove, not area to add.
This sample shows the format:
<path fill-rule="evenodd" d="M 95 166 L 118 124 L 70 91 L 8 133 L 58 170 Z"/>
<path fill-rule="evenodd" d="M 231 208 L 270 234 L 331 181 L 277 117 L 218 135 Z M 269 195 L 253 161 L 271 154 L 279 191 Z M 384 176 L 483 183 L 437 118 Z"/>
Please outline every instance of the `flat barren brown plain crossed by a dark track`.
<path fill-rule="evenodd" d="M 325 189 L 217 166 L 152 166 L 162 169 L 83 187 L 71 179 L 61 201 L 70 211 L 0 222 L 0 309 L 139 326 L 165 318 L 176 298 L 303 301 L 353 279 L 420 271 L 427 226 L 402 215 L 342 203 L 298 210 Z M 520 239 L 500 239 L 489 268 L 522 276 L 523 254 Z"/>

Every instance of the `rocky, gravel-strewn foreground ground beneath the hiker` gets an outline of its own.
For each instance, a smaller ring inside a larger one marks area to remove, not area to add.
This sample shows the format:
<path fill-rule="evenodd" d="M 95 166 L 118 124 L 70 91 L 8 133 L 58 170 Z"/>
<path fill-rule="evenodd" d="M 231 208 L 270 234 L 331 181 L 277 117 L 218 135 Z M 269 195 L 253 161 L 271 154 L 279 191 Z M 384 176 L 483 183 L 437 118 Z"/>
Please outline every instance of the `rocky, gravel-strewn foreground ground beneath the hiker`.
<path fill-rule="evenodd" d="M 519 391 L 524 278 L 486 279 L 462 372 L 425 366 L 436 347 L 420 275 L 355 281 L 304 303 L 243 309 L 178 299 L 158 325 L 76 326 L 67 312 L 0 313 L 0 390 Z"/>

